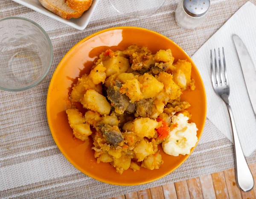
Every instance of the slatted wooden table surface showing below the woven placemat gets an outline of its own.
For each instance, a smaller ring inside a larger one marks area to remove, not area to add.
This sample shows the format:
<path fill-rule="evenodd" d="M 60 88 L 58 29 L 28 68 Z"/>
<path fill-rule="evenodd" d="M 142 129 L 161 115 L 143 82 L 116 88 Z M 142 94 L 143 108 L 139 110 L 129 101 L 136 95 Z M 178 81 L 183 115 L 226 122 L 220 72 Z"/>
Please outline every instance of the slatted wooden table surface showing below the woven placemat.
<path fill-rule="evenodd" d="M 256 163 L 249 165 L 256 179 Z M 128 193 L 112 199 L 254 199 L 256 185 L 244 192 L 238 188 L 235 170 L 229 169 L 206 176 L 183 180 L 155 188 Z"/>

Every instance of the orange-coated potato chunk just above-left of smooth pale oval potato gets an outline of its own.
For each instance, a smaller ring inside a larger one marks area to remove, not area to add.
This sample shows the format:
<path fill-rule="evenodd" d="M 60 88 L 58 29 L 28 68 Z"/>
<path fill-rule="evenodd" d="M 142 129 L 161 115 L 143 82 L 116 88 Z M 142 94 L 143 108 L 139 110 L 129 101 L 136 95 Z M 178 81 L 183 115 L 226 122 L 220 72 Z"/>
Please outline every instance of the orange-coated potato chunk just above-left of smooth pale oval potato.
<path fill-rule="evenodd" d="M 87 74 L 84 74 L 78 79 L 78 82 L 73 86 L 70 97 L 73 102 L 81 102 L 87 89 L 93 89 L 98 93 L 102 93 L 102 85 L 94 84 L 93 80 Z"/>

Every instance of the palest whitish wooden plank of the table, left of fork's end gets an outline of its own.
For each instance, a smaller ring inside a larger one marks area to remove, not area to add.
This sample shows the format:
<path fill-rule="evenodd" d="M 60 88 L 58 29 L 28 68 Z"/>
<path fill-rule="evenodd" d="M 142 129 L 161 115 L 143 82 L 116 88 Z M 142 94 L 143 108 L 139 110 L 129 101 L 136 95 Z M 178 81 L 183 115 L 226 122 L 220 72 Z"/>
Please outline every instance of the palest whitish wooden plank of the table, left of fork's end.
<path fill-rule="evenodd" d="M 199 177 L 204 199 L 216 199 L 211 174 Z"/>

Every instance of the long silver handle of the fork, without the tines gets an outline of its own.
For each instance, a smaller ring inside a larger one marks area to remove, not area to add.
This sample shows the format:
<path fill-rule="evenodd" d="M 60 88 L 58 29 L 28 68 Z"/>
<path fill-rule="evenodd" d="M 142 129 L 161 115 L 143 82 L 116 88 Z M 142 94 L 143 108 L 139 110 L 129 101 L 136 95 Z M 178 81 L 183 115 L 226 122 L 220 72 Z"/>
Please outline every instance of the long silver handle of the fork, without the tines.
<path fill-rule="evenodd" d="M 250 172 L 249 166 L 244 158 L 244 154 L 241 148 L 239 137 L 236 131 L 235 120 L 230 107 L 227 103 L 227 109 L 230 115 L 231 125 L 233 129 L 233 140 L 234 140 L 234 154 L 236 164 L 236 182 L 243 191 L 249 191 L 253 188 L 253 175 Z"/>

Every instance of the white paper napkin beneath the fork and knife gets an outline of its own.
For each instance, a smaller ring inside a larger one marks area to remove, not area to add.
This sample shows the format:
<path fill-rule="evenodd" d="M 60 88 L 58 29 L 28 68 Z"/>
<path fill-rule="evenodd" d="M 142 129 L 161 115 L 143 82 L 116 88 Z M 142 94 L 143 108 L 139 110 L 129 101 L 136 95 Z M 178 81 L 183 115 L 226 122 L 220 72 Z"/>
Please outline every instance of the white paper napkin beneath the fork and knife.
<path fill-rule="evenodd" d="M 192 56 L 203 78 L 207 94 L 207 117 L 233 142 L 230 118 L 225 103 L 212 88 L 210 50 L 224 47 L 227 75 L 230 82 L 230 105 L 245 156 L 256 150 L 256 118 L 250 105 L 241 66 L 232 35 L 237 34 L 256 64 L 256 6 L 247 2 Z M 221 55 L 222 57 L 222 55 Z M 217 58 L 218 59 L 218 58 Z M 255 85 L 256 86 L 256 85 Z M 212 132 L 214 133 L 214 132 Z"/>

